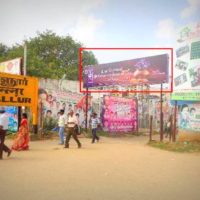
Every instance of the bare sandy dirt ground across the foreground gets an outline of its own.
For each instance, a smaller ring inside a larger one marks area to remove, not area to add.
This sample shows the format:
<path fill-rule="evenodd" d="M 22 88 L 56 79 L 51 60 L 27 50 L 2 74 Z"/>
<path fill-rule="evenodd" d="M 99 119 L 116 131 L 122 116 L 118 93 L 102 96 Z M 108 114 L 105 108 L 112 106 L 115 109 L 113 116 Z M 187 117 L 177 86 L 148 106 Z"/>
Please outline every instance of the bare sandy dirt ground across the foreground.
<path fill-rule="evenodd" d="M 200 154 L 146 145 L 147 137 L 81 138 L 69 149 L 35 141 L 0 161 L 1 200 L 199 200 Z M 11 144 L 12 141 L 6 141 Z"/>

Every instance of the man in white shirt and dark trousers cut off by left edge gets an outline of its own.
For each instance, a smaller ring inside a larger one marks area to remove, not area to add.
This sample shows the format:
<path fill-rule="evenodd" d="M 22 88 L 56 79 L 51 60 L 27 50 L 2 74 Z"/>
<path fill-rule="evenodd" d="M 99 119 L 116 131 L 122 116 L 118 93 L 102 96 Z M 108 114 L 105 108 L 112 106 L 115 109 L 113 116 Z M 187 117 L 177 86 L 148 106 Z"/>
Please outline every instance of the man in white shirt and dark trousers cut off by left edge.
<path fill-rule="evenodd" d="M 8 117 L 5 114 L 5 109 L 0 108 L 0 159 L 3 159 L 3 151 L 7 152 L 10 156 L 12 150 L 9 149 L 5 144 L 5 136 L 8 130 Z"/>

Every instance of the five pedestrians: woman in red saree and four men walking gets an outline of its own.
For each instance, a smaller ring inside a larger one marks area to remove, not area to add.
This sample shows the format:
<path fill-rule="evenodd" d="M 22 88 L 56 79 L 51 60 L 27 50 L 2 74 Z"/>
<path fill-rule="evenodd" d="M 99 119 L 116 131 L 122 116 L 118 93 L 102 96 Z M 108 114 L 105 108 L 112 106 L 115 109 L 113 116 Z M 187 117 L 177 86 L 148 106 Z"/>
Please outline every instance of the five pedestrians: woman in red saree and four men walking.
<path fill-rule="evenodd" d="M 80 131 L 80 121 L 79 114 L 74 114 L 73 110 L 70 110 L 67 117 L 64 115 L 64 110 L 60 110 L 60 116 L 58 118 L 58 131 L 60 137 L 60 144 L 64 145 L 65 148 L 69 148 L 69 141 L 71 137 L 76 141 L 78 148 L 81 148 L 81 143 L 78 139 L 78 134 Z M 99 141 L 97 136 L 97 128 L 100 125 L 97 114 L 93 113 L 90 119 L 90 127 L 92 131 L 92 143 Z M 19 130 L 16 134 L 14 142 L 9 148 L 4 144 L 5 136 L 8 131 L 8 117 L 5 113 L 4 108 L 0 108 L 0 159 L 3 159 L 3 151 L 7 153 L 7 156 L 10 156 L 12 150 L 21 151 L 29 149 L 29 128 L 28 128 L 28 119 L 27 114 L 22 114 L 22 120 L 20 123 Z M 64 141 L 66 133 L 66 140 Z"/>

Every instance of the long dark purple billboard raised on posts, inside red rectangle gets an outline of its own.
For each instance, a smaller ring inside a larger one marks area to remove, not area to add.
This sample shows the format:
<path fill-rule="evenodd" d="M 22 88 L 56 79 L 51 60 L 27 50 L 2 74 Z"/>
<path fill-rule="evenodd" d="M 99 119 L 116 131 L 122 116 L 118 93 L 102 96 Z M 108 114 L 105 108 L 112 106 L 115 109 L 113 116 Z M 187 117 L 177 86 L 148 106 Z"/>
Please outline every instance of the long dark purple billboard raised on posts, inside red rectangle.
<path fill-rule="evenodd" d="M 86 66 L 84 87 L 159 84 L 168 82 L 168 54 Z"/>

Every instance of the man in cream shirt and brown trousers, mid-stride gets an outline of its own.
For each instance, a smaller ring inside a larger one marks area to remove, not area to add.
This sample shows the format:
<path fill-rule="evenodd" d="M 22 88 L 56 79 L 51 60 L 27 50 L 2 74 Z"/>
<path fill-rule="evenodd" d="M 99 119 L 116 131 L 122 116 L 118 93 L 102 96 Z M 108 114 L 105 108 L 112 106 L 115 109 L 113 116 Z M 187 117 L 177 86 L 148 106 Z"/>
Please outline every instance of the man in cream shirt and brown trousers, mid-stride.
<path fill-rule="evenodd" d="M 67 137 L 65 140 L 65 148 L 69 148 L 69 141 L 71 136 L 74 138 L 76 143 L 78 144 L 78 148 L 81 148 L 81 143 L 78 140 L 77 133 L 75 132 L 75 125 L 78 125 L 77 122 L 77 117 L 74 115 L 74 111 L 71 110 L 68 114 L 68 119 L 67 119 Z"/>

